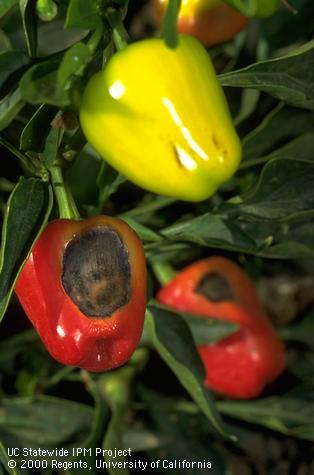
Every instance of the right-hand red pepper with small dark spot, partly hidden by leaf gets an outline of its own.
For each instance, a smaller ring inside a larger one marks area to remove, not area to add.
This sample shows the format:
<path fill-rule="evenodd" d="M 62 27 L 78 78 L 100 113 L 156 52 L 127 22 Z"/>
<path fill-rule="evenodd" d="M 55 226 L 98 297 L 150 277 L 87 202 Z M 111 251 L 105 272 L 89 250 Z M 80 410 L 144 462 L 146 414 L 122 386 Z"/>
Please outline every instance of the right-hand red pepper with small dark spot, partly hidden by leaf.
<path fill-rule="evenodd" d="M 283 344 L 254 285 L 232 261 L 212 257 L 192 264 L 159 291 L 157 300 L 173 309 L 239 325 L 222 340 L 198 347 L 209 388 L 232 398 L 253 398 L 283 371 Z"/>

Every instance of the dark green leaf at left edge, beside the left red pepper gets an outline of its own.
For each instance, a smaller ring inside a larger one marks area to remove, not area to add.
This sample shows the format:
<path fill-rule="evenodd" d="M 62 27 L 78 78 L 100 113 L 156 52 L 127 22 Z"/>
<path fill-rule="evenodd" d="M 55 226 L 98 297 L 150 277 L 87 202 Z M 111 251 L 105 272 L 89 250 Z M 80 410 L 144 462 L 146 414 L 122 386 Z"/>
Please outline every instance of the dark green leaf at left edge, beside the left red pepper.
<path fill-rule="evenodd" d="M 52 206 L 51 189 L 36 178 L 21 177 L 10 195 L 2 228 L 0 254 L 0 320 L 19 271 L 41 233 Z"/>

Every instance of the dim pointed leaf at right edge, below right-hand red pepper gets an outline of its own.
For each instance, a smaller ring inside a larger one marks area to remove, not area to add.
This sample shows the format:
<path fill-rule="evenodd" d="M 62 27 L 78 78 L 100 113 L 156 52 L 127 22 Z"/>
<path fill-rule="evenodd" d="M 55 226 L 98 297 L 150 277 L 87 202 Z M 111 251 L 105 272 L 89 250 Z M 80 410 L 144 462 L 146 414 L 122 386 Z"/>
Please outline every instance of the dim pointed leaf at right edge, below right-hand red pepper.
<path fill-rule="evenodd" d="M 314 441 L 314 388 L 299 387 L 281 396 L 255 401 L 220 401 L 228 416 L 258 424 L 292 437 Z"/>

